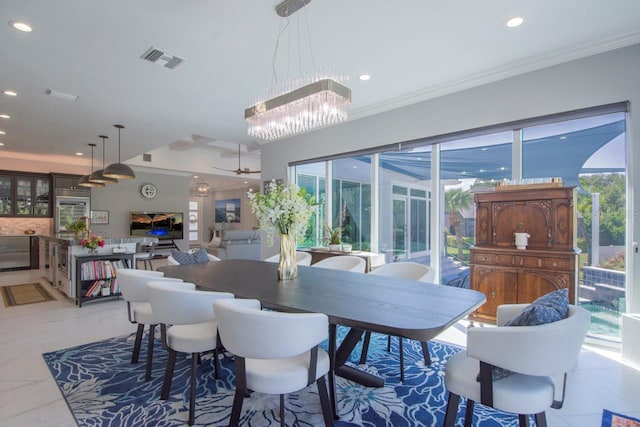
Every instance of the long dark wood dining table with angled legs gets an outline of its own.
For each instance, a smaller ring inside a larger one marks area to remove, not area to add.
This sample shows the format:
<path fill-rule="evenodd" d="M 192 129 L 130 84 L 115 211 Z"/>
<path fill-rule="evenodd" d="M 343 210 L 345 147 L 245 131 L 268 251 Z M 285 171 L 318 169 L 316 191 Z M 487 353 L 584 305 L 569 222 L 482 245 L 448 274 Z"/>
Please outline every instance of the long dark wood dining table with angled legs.
<path fill-rule="evenodd" d="M 230 259 L 160 267 L 166 276 L 195 283 L 200 289 L 231 292 L 260 300 L 264 308 L 324 313 L 329 318 L 329 356 L 336 375 L 366 386 L 384 379 L 345 365 L 364 331 L 428 341 L 484 304 L 469 289 L 298 266 L 298 278 L 279 281 L 277 263 Z M 350 327 L 336 348 L 336 326 Z M 335 382 L 329 378 L 335 410 Z"/>

